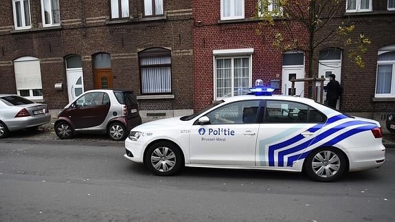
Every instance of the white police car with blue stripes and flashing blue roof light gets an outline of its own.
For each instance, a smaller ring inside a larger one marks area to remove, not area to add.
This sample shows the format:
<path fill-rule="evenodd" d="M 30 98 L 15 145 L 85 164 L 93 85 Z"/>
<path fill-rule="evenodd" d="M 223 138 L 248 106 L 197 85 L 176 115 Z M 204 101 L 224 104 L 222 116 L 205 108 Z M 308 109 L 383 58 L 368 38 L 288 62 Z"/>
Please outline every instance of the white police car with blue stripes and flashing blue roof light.
<path fill-rule="evenodd" d="M 192 166 L 304 172 L 316 181 L 383 165 L 379 122 L 271 91 L 251 88 L 193 115 L 136 126 L 124 157 L 161 176 Z"/>

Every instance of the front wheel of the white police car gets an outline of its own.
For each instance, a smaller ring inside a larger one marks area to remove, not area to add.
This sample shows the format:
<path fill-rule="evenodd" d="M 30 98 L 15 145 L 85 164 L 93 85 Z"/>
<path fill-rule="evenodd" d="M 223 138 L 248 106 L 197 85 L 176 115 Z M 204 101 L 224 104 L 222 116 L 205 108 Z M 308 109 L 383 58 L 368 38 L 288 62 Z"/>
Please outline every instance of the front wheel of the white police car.
<path fill-rule="evenodd" d="M 180 149 L 170 142 L 159 142 L 148 148 L 146 166 L 159 176 L 171 176 L 182 166 Z"/>

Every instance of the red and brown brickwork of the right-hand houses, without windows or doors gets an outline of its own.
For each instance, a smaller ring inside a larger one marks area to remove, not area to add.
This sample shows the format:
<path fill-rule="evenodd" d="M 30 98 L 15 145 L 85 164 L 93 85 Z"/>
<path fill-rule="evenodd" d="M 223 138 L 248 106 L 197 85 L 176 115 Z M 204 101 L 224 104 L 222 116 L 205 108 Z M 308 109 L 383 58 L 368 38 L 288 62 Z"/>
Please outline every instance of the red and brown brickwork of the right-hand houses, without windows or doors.
<path fill-rule="evenodd" d="M 382 3 L 383 2 L 383 3 Z M 214 99 L 214 65 L 213 50 L 253 48 L 252 79 L 262 78 L 269 85 L 270 80 L 281 81 L 282 52 L 272 46 L 270 29 L 262 35 L 256 34 L 258 22 L 254 21 L 256 1 L 245 0 L 245 19 L 221 21 L 221 1 L 192 1 L 194 28 L 194 109 L 201 109 Z M 395 111 L 395 98 L 377 99 L 376 66 L 377 54 L 381 47 L 395 45 L 395 12 L 387 10 L 387 1 L 373 1 L 372 12 L 346 13 L 346 3 L 339 21 L 350 19 L 356 25 L 352 38 L 363 33 L 370 38 L 368 53 L 363 56 L 365 69 L 361 69 L 348 58 L 348 49 L 344 47 L 345 39 L 332 37 L 324 42 L 315 53 L 328 47 L 343 49 L 341 60 L 341 84 L 344 87 L 340 109 L 348 113 L 383 120 L 385 113 Z M 329 25 L 330 26 L 330 25 Z M 294 26 L 299 38 L 308 38 L 303 27 Z M 330 29 L 328 29 L 330 30 Z M 317 40 L 324 36 L 324 30 L 317 34 Z M 307 52 L 305 52 L 307 54 Z M 318 58 L 318 56 L 317 56 Z M 305 60 L 305 74 L 308 73 L 308 60 Z M 318 75 L 318 62 L 314 63 L 314 74 Z M 280 83 L 281 85 L 281 83 Z M 284 93 L 278 91 L 278 93 Z"/>

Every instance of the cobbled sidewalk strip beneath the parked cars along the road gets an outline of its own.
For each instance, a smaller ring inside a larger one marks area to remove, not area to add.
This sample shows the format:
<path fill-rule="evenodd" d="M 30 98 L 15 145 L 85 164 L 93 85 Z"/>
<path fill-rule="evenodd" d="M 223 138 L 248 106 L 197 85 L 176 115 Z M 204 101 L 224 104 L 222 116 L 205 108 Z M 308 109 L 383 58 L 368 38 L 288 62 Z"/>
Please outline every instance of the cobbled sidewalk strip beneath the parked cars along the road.
<path fill-rule="evenodd" d="M 107 135 L 76 135 L 68 140 L 61 140 L 54 131 L 54 121 L 40 126 L 35 132 L 21 131 L 11 133 L 10 140 L 36 140 L 36 141 L 62 141 L 62 142 L 111 142 L 123 144 L 123 141 L 113 141 Z M 383 145 L 385 148 L 395 148 L 395 133 L 385 133 L 383 135 Z"/>

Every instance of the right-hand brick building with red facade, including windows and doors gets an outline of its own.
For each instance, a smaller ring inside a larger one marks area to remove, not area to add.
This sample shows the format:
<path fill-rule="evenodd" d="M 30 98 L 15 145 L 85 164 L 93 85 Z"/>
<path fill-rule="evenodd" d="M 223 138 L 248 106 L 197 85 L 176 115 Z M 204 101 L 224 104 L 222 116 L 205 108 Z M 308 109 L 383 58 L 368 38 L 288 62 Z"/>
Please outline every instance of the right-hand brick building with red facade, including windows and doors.
<path fill-rule="evenodd" d="M 270 28 L 256 34 L 257 3 L 192 1 L 195 109 L 213 100 L 245 93 L 258 78 L 276 87 L 276 93 L 288 95 L 293 76 L 307 77 L 307 52 L 275 49 Z M 395 111 L 395 1 L 346 0 L 342 5 L 339 16 L 328 27 L 349 19 L 356 25 L 352 38 L 361 33 L 370 38 L 372 44 L 363 56 L 365 68 L 357 67 L 348 58 L 344 37 L 332 37 L 315 50 L 319 60 L 314 61 L 313 73 L 327 79 L 329 74 L 336 74 L 344 88 L 337 104 L 341 111 L 374 118 L 383 124 L 385 116 Z M 273 10 L 273 6 L 269 5 L 268 10 Z M 293 30 L 306 29 L 295 24 Z M 328 30 L 322 30 L 317 41 Z M 296 32 L 296 38 L 306 40 L 305 32 Z M 297 95 L 306 96 L 306 84 L 296 82 L 295 87 Z"/>

